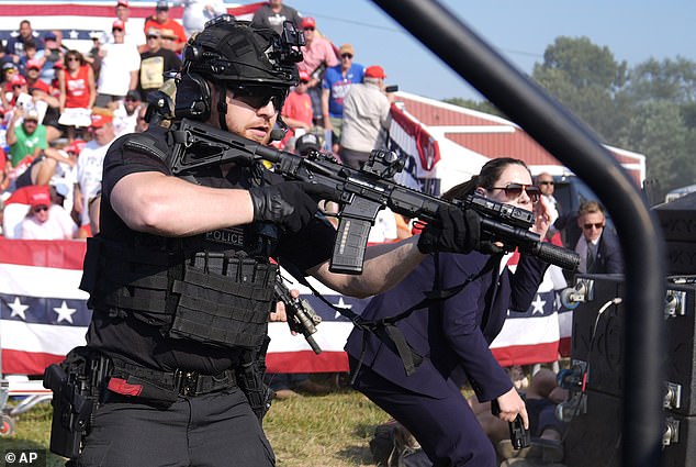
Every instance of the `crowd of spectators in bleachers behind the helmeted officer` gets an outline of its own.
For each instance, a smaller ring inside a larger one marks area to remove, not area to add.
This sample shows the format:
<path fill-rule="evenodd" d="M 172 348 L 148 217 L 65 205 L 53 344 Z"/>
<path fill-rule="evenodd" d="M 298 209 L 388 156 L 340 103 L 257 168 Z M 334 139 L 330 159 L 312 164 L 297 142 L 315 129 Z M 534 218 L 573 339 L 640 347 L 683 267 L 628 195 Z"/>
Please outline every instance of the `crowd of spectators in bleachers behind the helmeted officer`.
<path fill-rule="evenodd" d="M 170 7 L 183 7 L 181 21 L 170 16 Z M 87 52 L 68 48 L 60 30 L 40 33 L 29 20 L 21 21 L 18 34 L 0 43 L 0 209 L 12 202 L 14 191 L 46 186 L 54 193 L 64 192 L 61 208 L 77 226 L 71 236 L 94 234 L 106 148 L 117 136 L 147 127 L 143 116 L 148 98 L 165 84 L 168 71 L 181 66 L 188 37 L 225 12 L 221 0 L 159 0 L 141 26 L 130 19 L 128 1 L 117 0 L 111 29 L 90 34 Z M 285 137 L 274 144 L 295 151 L 298 137 L 313 134 L 323 151 L 340 159 L 346 151 L 340 137 L 347 132 L 363 149 L 357 159 L 350 153 L 350 164 L 358 166 L 367 158 L 368 146 L 383 144 L 375 135 L 388 126 L 391 98 L 384 92 L 385 73 L 353 62 L 351 44 L 336 46 L 313 18 L 282 0 L 261 5 L 251 20 L 279 33 L 285 21 L 304 32 L 306 44 L 298 64 L 300 82 L 281 111 Z M 353 85 L 363 82 L 370 96 L 380 99 L 370 104 L 370 118 L 364 119 L 364 102 L 357 97 L 346 120 L 344 102 Z M 43 219 L 29 203 L 25 212 L 33 222 Z M 388 214 L 373 229 L 375 240 L 409 234 Z M 4 236 L 24 237 L 18 225 L 5 225 Z M 54 232 L 56 238 L 65 237 Z"/>

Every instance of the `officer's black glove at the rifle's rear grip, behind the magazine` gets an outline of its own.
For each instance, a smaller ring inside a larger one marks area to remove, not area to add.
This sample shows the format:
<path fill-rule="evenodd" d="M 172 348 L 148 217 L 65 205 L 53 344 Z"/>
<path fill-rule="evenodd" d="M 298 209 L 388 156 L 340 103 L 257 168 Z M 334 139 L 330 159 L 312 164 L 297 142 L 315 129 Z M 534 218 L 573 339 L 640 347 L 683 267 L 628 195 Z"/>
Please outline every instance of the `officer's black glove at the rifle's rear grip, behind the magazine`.
<path fill-rule="evenodd" d="M 272 222 L 285 232 L 302 230 L 318 211 L 317 187 L 303 181 L 283 181 L 278 185 L 249 188 L 254 204 L 254 220 Z"/>

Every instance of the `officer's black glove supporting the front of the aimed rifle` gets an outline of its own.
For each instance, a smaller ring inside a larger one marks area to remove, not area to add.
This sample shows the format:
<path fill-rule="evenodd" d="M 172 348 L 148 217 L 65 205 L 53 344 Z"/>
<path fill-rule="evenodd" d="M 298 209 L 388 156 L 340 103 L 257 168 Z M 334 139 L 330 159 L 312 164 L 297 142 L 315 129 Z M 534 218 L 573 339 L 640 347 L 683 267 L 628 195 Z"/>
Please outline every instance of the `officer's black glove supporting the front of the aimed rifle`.
<path fill-rule="evenodd" d="M 469 253 L 480 245 L 481 218 L 475 211 L 448 205 L 439 212 L 439 222 L 430 222 L 418 238 L 420 253 Z"/>

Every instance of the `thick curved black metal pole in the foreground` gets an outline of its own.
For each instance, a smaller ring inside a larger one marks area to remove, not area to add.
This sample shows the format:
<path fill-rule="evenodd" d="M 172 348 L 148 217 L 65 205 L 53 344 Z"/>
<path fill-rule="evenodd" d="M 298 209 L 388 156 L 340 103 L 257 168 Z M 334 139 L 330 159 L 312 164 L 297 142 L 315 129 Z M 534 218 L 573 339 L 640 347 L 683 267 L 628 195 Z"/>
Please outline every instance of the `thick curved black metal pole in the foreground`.
<path fill-rule="evenodd" d="M 664 245 L 626 171 L 583 124 L 435 0 L 373 0 L 580 176 L 607 207 L 626 258 L 622 465 L 658 466 L 662 422 Z M 437 79 L 434 79 L 437 86 Z"/>

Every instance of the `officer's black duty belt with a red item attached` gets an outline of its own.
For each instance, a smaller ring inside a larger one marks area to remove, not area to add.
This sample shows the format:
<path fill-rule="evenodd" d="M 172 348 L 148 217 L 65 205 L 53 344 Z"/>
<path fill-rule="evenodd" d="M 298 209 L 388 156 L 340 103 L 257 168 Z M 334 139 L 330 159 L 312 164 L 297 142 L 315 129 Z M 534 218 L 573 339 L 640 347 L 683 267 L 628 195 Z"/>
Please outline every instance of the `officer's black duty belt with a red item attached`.
<path fill-rule="evenodd" d="M 113 375 L 108 388 L 123 396 L 173 402 L 178 396 L 201 396 L 237 386 L 234 370 L 217 375 L 176 369 L 160 371 L 112 357 Z"/>

